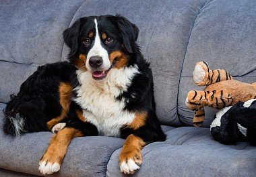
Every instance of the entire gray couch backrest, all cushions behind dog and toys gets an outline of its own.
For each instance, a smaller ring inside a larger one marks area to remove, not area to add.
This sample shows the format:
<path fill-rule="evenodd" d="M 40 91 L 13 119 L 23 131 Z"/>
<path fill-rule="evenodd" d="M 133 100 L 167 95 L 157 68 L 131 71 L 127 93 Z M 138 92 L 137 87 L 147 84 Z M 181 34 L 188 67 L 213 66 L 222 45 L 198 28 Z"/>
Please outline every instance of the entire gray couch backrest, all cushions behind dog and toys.
<path fill-rule="evenodd" d="M 0 48 L 7 51 L 0 53 L 6 60 L 0 64 L 4 70 L 4 77 L 0 78 L 1 101 L 7 101 L 9 93 L 18 91 L 18 86 L 36 69 L 34 66 L 66 60 L 69 48 L 63 47 L 61 33 L 76 19 L 87 15 L 121 14 L 139 27 L 137 43 L 146 60 L 151 62 L 156 109 L 162 124 L 192 125 L 193 111 L 185 106 L 185 97 L 190 90 L 203 89 L 193 84 L 192 73 L 197 61 L 205 60 L 212 68 L 224 68 L 238 80 L 255 82 L 254 0 L 87 0 L 57 5 L 53 3 L 63 1 L 44 2 L 30 2 L 36 6 L 30 12 L 33 15 L 20 17 L 30 24 L 26 28 L 20 25 L 20 30 L 15 30 L 17 22 L 13 21 L 0 29 L 4 34 L 0 37 L 4 39 Z M 26 11 L 24 2 L 9 4 L 13 5 L 8 6 L 9 9 L 17 8 L 12 13 L 21 15 Z M 0 8 L 4 9 L 1 5 Z M 0 13 L 3 10 L 0 9 Z M 9 12 L 11 17 L 12 13 Z M 7 18 L 0 14 L 1 23 L 7 23 Z M 42 24 L 34 25 L 39 19 Z M 7 40 L 6 36 L 19 40 Z M 210 125 L 215 112 L 206 109 L 203 126 Z"/>

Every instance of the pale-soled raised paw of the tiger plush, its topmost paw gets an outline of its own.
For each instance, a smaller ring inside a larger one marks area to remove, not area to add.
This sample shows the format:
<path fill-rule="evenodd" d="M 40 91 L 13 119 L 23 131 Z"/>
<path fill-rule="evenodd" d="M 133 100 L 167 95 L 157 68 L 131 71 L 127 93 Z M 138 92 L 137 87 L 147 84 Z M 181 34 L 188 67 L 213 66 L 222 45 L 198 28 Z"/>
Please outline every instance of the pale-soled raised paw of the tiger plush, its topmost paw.
<path fill-rule="evenodd" d="M 206 62 L 198 62 L 195 65 L 193 72 L 193 80 L 198 86 L 204 86 L 207 84 L 209 76 L 209 67 Z"/>

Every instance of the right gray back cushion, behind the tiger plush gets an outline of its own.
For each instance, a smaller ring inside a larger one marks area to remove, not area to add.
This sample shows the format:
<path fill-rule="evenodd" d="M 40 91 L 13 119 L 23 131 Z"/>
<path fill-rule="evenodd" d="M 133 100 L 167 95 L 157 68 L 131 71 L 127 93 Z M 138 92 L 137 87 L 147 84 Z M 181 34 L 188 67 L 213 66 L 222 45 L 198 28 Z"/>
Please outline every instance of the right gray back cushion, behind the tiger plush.
<path fill-rule="evenodd" d="M 224 68 L 234 79 L 256 82 L 256 1 L 207 1 L 193 24 L 179 87 L 179 116 L 192 125 L 193 112 L 187 110 L 185 98 L 193 84 L 197 61 L 205 60 L 210 68 Z M 212 123 L 216 110 L 207 108 L 203 126 Z"/>

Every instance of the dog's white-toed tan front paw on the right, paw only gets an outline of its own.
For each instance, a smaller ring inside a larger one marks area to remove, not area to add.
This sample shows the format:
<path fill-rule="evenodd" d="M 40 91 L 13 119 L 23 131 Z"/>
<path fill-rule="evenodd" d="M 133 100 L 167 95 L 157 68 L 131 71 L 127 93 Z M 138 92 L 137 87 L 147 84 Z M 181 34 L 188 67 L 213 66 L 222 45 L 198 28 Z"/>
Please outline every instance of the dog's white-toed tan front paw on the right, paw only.
<path fill-rule="evenodd" d="M 120 170 L 125 174 L 134 174 L 142 164 L 142 157 L 140 150 L 131 152 L 121 152 L 119 156 Z"/>

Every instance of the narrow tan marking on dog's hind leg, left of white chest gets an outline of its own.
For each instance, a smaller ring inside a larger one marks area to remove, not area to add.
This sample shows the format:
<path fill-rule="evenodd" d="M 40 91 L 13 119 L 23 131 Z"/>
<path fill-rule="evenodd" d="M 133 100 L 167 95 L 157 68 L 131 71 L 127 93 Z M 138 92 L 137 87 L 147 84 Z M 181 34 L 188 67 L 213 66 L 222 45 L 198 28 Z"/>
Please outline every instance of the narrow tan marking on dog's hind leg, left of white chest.
<path fill-rule="evenodd" d="M 61 104 L 62 111 L 61 111 L 61 115 L 47 122 L 47 127 L 49 130 L 51 130 L 54 125 L 56 125 L 57 123 L 62 121 L 65 117 L 67 117 L 67 113 L 69 112 L 69 107 L 71 104 L 72 91 L 73 91 L 73 87 L 71 86 L 71 84 L 67 84 L 65 82 L 60 83 L 59 103 Z"/>

